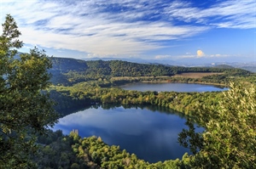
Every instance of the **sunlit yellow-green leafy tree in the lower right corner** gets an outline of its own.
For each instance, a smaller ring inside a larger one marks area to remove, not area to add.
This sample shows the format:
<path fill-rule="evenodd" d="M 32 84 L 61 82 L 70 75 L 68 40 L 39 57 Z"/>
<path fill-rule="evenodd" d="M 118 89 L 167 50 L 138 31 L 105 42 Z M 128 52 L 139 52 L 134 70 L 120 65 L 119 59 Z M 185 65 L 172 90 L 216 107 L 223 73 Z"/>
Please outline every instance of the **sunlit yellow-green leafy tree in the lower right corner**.
<path fill-rule="evenodd" d="M 205 132 L 196 133 L 192 122 L 179 141 L 194 153 L 193 168 L 256 168 L 256 87 L 231 83 L 219 106 L 198 107 L 193 118 Z"/>

